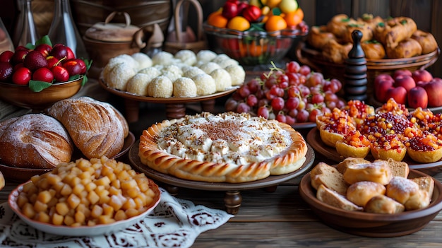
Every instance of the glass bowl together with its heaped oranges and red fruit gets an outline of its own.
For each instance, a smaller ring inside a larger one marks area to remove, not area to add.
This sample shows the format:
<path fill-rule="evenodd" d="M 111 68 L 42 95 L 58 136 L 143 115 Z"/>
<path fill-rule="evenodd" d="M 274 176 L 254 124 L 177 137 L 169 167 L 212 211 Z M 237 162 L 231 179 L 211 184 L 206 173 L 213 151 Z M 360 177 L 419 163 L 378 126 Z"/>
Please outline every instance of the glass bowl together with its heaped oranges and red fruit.
<path fill-rule="evenodd" d="M 279 4 L 227 1 L 210 13 L 203 28 L 208 45 L 243 65 L 268 64 L 285 57 L 294 41 L 307 35 L 304 12 L 296 0 Z"/>

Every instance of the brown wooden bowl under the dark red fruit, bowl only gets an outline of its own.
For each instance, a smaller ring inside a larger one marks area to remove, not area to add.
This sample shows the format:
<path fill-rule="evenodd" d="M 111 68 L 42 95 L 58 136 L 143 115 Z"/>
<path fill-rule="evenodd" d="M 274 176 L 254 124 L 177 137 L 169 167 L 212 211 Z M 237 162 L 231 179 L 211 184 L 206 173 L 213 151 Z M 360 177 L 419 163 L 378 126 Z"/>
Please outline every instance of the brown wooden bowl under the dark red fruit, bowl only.
<path fill-rule="evenodd" d="M 0 82 L 0 100 L 35 112 L 41 112 L 52 106 L 54 102 L 71 98 L 78 93 L 81 88 L 81 81 L 83 81 L 83 76 L 73 81 L 54 83 L 40 92 L 30 90 L 28 85 Z"/>

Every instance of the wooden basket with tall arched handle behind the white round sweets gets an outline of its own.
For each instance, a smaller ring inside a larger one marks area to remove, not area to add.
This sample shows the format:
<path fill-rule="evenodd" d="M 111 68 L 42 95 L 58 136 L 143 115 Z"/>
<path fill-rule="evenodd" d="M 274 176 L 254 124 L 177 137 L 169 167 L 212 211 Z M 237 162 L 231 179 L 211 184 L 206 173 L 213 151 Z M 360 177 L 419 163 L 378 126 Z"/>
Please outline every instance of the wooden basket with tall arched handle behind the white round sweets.
<path fill-rule="evenodd" d="M 195 9 L 197 14 L 197 33 L 196 35 L 193 33 L 193 30 L 186 26 L 186 32 L 183 32 L 181 23 L 183 21 L 180 18 L 180 10 L 181 6 L 185 3 L 191 3 Z M 193 52 L 199 52 L 203 49 L 207 49 L 207 42 L 204 39 L 203 33 L 203 9 L 201 8 L 201 4 L 196 0 L 180 0 L 175 7 L 174 13 L 174 28 L 175 30 L 167 37 L 167 40 L 164 45 L 164 50 L 170 52 L 172 54 L 177 53 L 183 49 L 189 49 Z"/>

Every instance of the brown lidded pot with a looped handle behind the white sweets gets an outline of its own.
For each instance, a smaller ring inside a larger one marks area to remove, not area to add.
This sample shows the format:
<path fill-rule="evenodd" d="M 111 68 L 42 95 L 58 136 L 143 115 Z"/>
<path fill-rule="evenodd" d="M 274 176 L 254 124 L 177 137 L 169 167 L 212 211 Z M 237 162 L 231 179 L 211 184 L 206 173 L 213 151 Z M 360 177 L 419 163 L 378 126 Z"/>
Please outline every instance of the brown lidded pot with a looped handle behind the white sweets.
<path fill-rule="evenodd" d="M 116 15 L 124 15 L 126 23 L 110 23 Z M 135 25 L 131 25 L 131 17 L 129 13 L 114 11 L 107 16 L 104 23 L 95 23 L 86 30 L 83 35 L 86 50 L 90 59 L 92 59 L 92 67 L 90 68 L 90 76 L 98 78 L 100 72 L 106 66 L 109 59 L 117 57 L 120 54 L 134 54 L 140 52 L 145 45 L 143 42 L 136 42 L 136 35 L 141 29 Z"/>

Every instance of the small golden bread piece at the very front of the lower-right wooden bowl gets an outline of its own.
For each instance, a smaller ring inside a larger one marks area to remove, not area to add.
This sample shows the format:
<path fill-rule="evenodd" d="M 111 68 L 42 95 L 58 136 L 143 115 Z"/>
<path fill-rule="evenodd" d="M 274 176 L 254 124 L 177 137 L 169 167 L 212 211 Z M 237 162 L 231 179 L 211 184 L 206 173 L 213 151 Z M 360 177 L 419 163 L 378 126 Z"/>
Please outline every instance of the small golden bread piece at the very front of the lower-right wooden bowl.
<path fill-rule="evenodd" d="M 369 213 L 401 213 L 405 211 L 405 206 L 398 201 L 383 194 L 371 198 L 364 207 L 364 211 Z"/>

